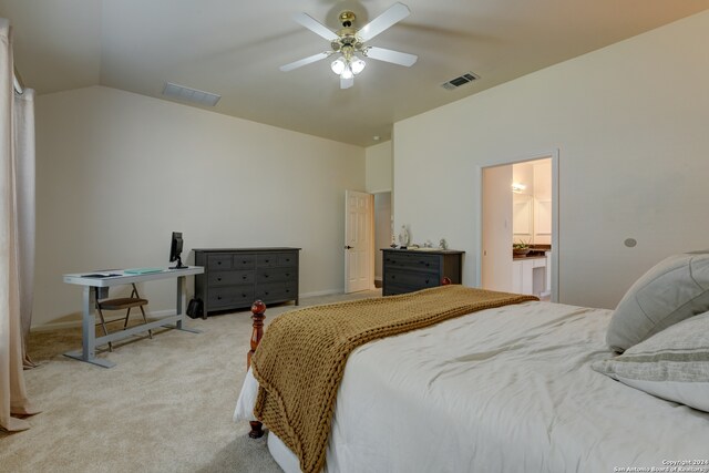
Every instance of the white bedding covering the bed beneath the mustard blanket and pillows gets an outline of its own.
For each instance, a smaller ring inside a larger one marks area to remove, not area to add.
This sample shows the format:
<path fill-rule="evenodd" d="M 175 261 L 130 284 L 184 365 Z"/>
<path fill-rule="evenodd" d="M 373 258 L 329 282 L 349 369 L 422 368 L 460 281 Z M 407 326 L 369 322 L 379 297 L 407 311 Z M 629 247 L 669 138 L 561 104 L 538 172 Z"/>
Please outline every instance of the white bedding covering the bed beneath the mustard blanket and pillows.
<path fill-rule="evenodd" d="M 610 313 L 525 302 L 358 348 L 326 471 L 613 472 L 709 460 L 708 413 L 590 369 L 612 356 Z M 255 390 L 249 371 L 235 419 L 253 420 Z"/>

